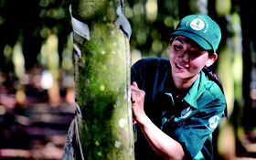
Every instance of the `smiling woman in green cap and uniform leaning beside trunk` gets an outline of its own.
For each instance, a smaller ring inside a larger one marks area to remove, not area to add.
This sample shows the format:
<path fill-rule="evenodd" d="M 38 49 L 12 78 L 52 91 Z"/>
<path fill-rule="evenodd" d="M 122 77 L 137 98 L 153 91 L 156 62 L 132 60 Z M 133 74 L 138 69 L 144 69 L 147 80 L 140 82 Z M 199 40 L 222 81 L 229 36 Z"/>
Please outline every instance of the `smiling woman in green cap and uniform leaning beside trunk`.
<path fill-rule="evenodd" d="M 210 134 L 226 110 L 222 86 L 208 70 L 218 59 L 220 28 L 207 15 L 184 17 L 169 59 L 140 59 L 131 71 L 135 159 L 212 159 Z"/>

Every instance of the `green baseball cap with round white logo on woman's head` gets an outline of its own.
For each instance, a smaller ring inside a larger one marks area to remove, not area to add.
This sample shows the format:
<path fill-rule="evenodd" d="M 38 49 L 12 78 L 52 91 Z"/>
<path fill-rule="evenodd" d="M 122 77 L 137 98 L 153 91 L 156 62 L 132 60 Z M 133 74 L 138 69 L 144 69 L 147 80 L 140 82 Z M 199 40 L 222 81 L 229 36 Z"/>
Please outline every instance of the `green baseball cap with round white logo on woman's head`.
<path fill-rule="evenodd" d="M 189 15 L 181 19 L 171 36 L 189 37 L 206 50 L 216 52 L 221 39 L 219 25 L 207 15 Z"/>

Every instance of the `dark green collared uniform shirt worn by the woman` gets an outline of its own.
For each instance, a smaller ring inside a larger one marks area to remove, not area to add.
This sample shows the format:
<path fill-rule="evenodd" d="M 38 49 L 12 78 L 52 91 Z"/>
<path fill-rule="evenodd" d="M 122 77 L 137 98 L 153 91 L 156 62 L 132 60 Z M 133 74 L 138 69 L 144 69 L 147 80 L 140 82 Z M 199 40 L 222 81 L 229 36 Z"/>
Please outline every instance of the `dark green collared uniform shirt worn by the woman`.
<path fill-rule="evenodd" d="M 176 98 L 168 59 L 140 59 L 133 64 L 131 82 L 145 91 L 144 111 L 163 132 L 179 142 L 185 159 L 212 159 L 210 134 L 227 106 L 223 92 L 201 71 L 185 95 Z M 162 159 L 136 126 L 136 160 Z"/>

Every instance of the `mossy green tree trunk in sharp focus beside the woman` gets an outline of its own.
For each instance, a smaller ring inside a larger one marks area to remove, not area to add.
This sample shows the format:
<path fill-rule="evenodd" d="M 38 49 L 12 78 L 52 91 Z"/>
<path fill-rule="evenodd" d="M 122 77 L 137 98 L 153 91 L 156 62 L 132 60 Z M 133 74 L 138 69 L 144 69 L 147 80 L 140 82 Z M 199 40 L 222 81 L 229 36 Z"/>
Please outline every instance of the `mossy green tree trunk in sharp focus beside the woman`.
<path fill-rule="evenodd" d="M 78 20 L 72 22 L 77 108 L 64 156 L 72 144 L 74 152 L 68 152 L 74 159 L 134 159 L 125 30 L 130 26 L 125 25 L 123 5 L 121 0 L 76 0 L 70 5 L 72 18 Z"/>

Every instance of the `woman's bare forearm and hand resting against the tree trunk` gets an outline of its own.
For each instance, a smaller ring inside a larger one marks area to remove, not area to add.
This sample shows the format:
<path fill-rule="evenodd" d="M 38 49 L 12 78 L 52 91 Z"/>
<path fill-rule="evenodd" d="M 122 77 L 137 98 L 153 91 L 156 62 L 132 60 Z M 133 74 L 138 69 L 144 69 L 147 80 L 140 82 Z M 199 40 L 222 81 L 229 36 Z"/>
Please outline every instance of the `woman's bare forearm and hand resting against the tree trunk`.
<path fill-rule="evenodd" d="M 131 86 L 133 119 L 141 127 L 144 136 L 155 152 L 165 159 L 182 159 L 184 151 L 178 142 L 163 133 L 144 112 L 144 91 L 138 89 L 136 82 Z"/>

